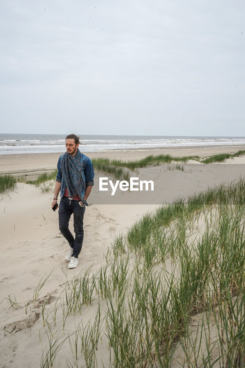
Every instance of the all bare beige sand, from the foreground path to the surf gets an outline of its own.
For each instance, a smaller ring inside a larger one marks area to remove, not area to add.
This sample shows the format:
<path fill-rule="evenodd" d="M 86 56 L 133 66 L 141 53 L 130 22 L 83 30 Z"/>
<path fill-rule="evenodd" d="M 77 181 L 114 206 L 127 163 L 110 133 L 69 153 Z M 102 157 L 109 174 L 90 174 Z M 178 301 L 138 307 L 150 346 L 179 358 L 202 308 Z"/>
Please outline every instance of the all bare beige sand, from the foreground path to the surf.
<path fill-rule="evenodd" d="M 140 159 L 150 154 L 170 154 L 180 157 L 198 155 L 203 158 L 217 153 L 235 153 L 240 149 L 245 147 L 110 151 L 89 153 L 88 156 L 91 159 L 109 157 L 128 160 Z M 59 153 L 1 155 L 0 174 L 35 177 L 43 171 L 55 169 L 59 156 Z M 1 368 L 40 367 L 43 351 L 49 346 L 50 332 L 48 323 L 43 323 L 43 305 L 46 303 L 45 313 L 52 315 L 65 285 L 75 275 L 89 267 L 91 272 L 96 273 L 105 264 L 107 249 L 117 234 L 124 233 L 144 213 L 160 204 L 172 202 L 180 196 L 185 197 L 216 184 L 229 183 L 240 176 L 245 177 L 245 156 L 229 159 L 224 163 L 206 165 L 192 161 L 184 165 L 183 171 L 167 165 L 140 169 L 139 179 L 154 181 L 154 191 L 142 195 L 132 191 L 117 191 L 114 196 L 111 196 L 110 191 L 101 192 L 99 177 L 103 174 L 95 174 L 95 185 L 88 200 L 90 205 L 86 208 L 84 216 L 84 243 L 78 267 L 73 270 L 68 270 L 68 263 L 64 260 L 68 245 L 58 229 L 58 213 L 51 209 L 53 189 L 42 192 L 39 187 L 18 183 L 14 191 L 0 195 Z M 70 227 L 72 228 L 72 219 Z M 40 287 L 46 277 L 46 282 Z M 100 302 L 103 309 L 105 300 Z M 98 298 L 95 295 L 92 306 L 83 305 L 81 314 L 76 312 L 67 316 L 64 333 L 61 328 L 63 311 L 58 308 L 57 323 L 55 327 L 52 326 L 52 331 L 57 331 L 55 336 L 60 339 L 62 336 L 67 337 L 69 331 L 72 340 L 74 326 L 81 321 L 81 315 L 85 327 L 90 319 L 94 318 L 97 307 Z M 104 367 L 109 367 L 106 338 L 103 344 L 99 342 L 98 346 L 97 366 L 102 367 L 103 361 Z M 60 348 L 53 367 L 77 367 L 72 365 L 76 362 L 74 354 L 74 346 L 72 351 L 71 342 L 67 339 Z M 81 363 L 79 360 L 78 367 L 81 367 L 84 361 L 79 359 Z M 67 361 L 71 365 L 68 365 Z"/>

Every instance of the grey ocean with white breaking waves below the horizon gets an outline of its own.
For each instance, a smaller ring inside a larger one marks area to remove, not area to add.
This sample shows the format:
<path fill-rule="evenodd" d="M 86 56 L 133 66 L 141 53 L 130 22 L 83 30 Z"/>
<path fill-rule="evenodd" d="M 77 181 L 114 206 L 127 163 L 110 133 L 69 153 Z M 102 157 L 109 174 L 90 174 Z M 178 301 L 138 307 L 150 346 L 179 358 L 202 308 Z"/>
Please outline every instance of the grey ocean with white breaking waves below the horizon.
<path fill-rule="evenodd" d="M 65 152 L 62 134 L 0 134 L 0 155 Z M 81 135 L 82 152 L 180 146 L 245 145 L 245 137 L 175 137 L 153 135 Z"/>

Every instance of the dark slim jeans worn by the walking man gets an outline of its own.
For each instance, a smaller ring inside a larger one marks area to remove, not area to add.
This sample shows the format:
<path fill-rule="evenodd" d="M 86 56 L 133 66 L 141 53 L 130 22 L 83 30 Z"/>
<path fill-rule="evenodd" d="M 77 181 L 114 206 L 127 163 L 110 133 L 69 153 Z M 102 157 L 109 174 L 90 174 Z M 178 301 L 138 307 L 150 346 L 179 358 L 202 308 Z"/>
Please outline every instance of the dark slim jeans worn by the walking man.
<path fill-rule="evenodd" d="M 81 207 L 78 201 L 62 197 L 59 205 L 59 227 L 61 234 L 73 248 L 72 257 L 77 257 L 82 249 L 84 240 L 84 212 L 85 206 Z M 73 213 L 75 239 L 68 229 L 69 220 Z"/>

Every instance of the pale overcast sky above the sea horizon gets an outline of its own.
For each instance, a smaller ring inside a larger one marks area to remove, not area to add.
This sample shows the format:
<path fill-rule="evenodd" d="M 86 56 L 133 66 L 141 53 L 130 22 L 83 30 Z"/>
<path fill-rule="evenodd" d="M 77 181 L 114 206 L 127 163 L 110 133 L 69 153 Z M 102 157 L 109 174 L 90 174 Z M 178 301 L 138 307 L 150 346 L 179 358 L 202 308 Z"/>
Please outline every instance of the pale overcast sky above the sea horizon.
<path fill-rule="evenodd" d="M 245 136 L 245 1 L 4 0 L 2 133 Z"/>

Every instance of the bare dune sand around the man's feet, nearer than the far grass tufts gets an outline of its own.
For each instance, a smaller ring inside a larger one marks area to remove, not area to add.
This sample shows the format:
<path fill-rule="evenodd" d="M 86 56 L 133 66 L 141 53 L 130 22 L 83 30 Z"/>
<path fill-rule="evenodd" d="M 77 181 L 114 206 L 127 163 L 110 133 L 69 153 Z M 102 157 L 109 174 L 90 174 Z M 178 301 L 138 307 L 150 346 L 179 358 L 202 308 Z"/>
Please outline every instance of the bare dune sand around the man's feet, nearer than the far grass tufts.
<path fill-rule="evenodd" d="M 113 200 L 108 196 L 103 197 L 104 194 L 99 192 L 96 173 L 96 184 L 88 200 L 90 206 L 86 208 L 84 216 L 84 244 L 78 267 L 73 270 L 67 270 L 64 257 L 68 245 L 58 230 L 58 213 L 53 212 L 50 207 L 53 191 L 42 193 L 40 188 L 19 183 L 13 192 L 2 194 L 1 367 L 24 368 L 29 364 L 30 367 L 40 367 L 42 348 L 47 343 L 42 321 L 43 304 L 46 302 L 53 307 L 67 280 L 71 280 L 81 270 L 91 266 L 96 272 L 104 264 L 104 254 L 116 234 L 124 232 L 143 213 L 156 208 L 160 202 L 171 202 L 180 195 L 185 196 L 207 186 L 232 181 L 240 175 L 245 176 L 244 163 L 244 157 L 241 157 L 236 158 L 235 162 L 231 160 L 205 166 L 191 162 L 185 166 L 184 171 L 168 170 L 166 166 L 141 169 L 139 177 L 153 178 L 158 187 L 160 183 L 163 184 L 159 191 L 156 188 L 154 193 L 155 197 L 160 195 L 160 199 L 157 198 L 152 203 L 146 203 L 145 197 L 139 201 L 137 193 L 133 192 L 127 192 L 127 195 L 118 193 Z M 104 204 L 106 202 L 107 204 Z M 72 219 L 70 228 L 72 229 Z M 67 279 L 64 272 L 67 272 Z M 30 303 L 26 310 L 26 304 L 37 292 L 40 280 L 44 280 L 49 274 L 35 302 Z M 9 296 L 11 300 L 16 301 L 12 308 Z M 83 307 L 84 322 L 89 321 L 95 308 L 96 301 L 93 307 Z M 61 319 L 59 310 L 57 320 Z M 72 330 L 76 317 L 71 316 L 69 321 Z M 107 346 L 100 346 L 99 354 L 105 362 L 108 361 Z M 64 356 L 72 359 L 69 344 L 63 348 L 59 361 L 61 367 L 67 366 Z"/>

